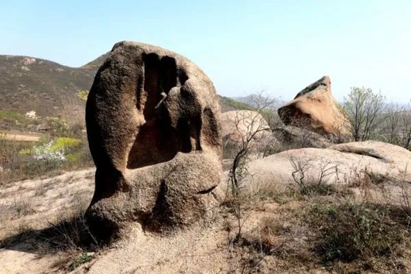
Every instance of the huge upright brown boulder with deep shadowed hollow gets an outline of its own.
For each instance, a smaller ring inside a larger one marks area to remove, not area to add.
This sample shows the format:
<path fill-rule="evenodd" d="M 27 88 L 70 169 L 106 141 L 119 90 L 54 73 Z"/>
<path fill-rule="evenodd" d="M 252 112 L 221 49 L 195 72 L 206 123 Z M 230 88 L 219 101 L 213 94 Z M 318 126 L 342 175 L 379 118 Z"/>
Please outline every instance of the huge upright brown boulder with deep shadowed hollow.
<path fill-rule="evenodd" d="M 138 42 L 114 45 L 88 95 L 86 125 L 97 166 L 86 218 L 99 236 L 130 223 L 183 227 L 216 206 L 219 99 L 182 55 Z"/>

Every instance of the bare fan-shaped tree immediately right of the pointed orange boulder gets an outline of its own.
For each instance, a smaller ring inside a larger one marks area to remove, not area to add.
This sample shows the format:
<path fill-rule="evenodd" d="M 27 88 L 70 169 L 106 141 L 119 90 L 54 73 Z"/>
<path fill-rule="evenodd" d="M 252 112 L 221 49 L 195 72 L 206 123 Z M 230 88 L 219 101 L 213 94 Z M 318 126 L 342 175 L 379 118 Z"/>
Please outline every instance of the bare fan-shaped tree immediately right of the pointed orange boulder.
<path fill-rule="evenodd" d="M 379 123 L 382 122 L 384 97 L 371 88 L 351 88 L 344 100 L 344 110 L 349 121 L 349 130 L 354 140 L 369 140 Z"/>

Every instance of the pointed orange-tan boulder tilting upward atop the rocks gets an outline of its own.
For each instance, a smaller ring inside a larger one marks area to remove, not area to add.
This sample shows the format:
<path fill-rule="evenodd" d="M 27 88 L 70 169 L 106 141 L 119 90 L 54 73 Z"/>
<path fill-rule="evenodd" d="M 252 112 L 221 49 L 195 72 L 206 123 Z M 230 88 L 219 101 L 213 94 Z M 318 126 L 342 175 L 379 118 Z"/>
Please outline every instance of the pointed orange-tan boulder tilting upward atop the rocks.
<path fill-rule="evenodd" d="M 347 121 L 331 94 L 324 76 L 301 90 L 294 100 L 278 109 L 285 125 L 306 127 L 319 134 L 347 135 Z"/>

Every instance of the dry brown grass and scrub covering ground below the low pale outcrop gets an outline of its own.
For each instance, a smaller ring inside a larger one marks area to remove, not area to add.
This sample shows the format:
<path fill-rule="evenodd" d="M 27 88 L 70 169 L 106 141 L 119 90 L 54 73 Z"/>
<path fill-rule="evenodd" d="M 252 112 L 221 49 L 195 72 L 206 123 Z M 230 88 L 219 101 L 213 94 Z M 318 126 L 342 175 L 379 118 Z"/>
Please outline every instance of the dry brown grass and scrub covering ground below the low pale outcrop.
<path fill-rule="evenodd" d="M 393 179 L 363 171 L 347 184 L 252 189 L 242 237 L 225 225 L 232 273 L 409 273 L 410 184 Z"/>

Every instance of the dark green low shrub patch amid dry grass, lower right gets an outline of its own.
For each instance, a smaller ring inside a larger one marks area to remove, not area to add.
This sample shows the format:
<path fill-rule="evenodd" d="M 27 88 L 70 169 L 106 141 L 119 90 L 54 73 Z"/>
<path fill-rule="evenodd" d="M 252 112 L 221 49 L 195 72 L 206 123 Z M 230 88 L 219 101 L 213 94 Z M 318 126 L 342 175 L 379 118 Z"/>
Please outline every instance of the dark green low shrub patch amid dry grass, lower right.
<path fill-rule="evenodd" d="M 315 205 L 308 221 L 319 231 L 315 250 L 323 262 L 393 254 L 411 232 L 411 219 L 401 208 L 369 203 Z"/>

